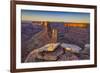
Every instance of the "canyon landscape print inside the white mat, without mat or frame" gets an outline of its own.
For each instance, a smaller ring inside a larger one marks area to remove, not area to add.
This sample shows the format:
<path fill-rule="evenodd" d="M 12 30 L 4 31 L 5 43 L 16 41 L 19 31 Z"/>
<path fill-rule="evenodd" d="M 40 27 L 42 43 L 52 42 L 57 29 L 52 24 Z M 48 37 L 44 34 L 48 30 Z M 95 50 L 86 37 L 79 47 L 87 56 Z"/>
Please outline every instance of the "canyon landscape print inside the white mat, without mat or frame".
<path fill-rule="evenodd" d="M 90 13 L 21 10 L 22 62 L 90 59 Z"/>

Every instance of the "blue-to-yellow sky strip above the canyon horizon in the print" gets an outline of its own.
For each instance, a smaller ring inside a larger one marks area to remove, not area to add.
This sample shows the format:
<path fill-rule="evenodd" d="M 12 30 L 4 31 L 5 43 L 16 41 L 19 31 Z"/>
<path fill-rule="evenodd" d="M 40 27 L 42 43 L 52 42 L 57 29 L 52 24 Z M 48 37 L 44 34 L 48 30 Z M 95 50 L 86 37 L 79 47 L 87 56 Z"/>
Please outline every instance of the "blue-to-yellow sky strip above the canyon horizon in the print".
<path fill-rule="evenodd" d="M 21 10 L 21 20 L 90 23 L 90 13 Z"/>

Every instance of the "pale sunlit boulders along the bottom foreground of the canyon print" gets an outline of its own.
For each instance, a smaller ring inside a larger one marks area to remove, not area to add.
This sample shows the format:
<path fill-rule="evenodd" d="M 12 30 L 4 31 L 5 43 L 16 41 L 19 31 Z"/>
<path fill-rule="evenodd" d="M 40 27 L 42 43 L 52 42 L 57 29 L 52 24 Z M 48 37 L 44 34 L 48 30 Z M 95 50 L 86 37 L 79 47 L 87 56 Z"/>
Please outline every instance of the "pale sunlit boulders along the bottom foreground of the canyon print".
<path fill-rule="evenodd" d="M 79 46 L 65 43 L 54 44 L 53 51 L 48 51 L 50 44 L 33 50 L 26 58 L 25 62 L 45 62 L 45 61 L 69 61 L 89 59 L 89 44 L 82 50 Z"/>

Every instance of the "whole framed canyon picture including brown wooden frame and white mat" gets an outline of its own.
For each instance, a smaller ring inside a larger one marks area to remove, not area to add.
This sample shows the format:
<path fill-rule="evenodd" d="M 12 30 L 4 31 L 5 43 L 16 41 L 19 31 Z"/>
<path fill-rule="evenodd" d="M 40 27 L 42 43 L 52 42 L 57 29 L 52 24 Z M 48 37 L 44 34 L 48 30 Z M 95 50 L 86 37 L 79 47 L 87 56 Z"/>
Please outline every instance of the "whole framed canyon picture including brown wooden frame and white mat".
<path fill-rule="evenodd" d="M 11 72 L 97 66 L 97 7 L 11 1 Z"/>

